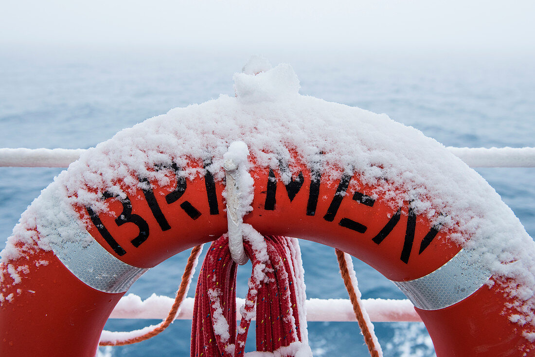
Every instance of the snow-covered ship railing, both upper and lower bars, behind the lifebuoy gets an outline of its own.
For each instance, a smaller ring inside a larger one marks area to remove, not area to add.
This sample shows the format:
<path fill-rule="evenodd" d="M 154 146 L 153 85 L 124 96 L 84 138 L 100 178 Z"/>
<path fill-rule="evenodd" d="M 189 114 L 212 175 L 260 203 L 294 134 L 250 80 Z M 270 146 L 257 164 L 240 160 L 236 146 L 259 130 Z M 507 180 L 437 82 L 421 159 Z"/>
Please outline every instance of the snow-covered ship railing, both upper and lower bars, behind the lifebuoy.
<path fill-rule="evenodd" d="M 535 168 L 535 147 L 447 149 L 472 168 Z M 0 148 L 0 167 L 66 168 L 84 151 L 86 149 Z M 146 300 L 128 294 L 119 301 L 110 317 L 160 320 L 167 316 L 173 301 L 154 294 Z M 193 301 L 193 298 L 186 298 L 182 302 L 177 319 L 191 320 Z M 236 299 L 238 306 L 243 302 L 243 299 Z M 364 299 L 363 303 L 373 322 L 421 322 L 414 306 L 406 299 Z M 306 306 L 308 321 L 355 321 L 348 299 L 309 299 Z"/>

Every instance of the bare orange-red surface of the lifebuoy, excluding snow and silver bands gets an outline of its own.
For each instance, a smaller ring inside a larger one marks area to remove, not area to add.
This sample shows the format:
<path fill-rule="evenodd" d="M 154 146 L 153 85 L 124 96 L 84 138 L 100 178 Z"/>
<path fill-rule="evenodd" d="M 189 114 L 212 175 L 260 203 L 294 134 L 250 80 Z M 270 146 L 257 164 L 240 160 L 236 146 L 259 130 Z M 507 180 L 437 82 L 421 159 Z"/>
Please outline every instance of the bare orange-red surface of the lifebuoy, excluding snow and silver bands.
<path fill-rule="evenodd" d="M 302 165 L 299 175 L 285 185 L 280 171 L 255 167 L 251 173 L 255 177 L 254 209 L 244 223 L 262 234 L 312 239 L 339 248 L 396 282 L 429 275 L 460 250 L 448 243 L 447 232 L 433 230 L 424 217 L 409 213 L 407 205 L 397 210 L 384 200 L 367 196 L 368 189 L 358 185 L 358 174 L 324 182 L 311 179 L 311 172 Z M 91 236 L 121 262 L 154 267 L 226 232 L 223 183 L 208 172 L 204 177 L 175 181 L 178 185 L 137 189 L 123 202 L 108 198 L 109 214 L 79 208 L 80 215 L 91 221 Z M 355 189 L 358 186 L 363 188 Z M 123 218 L 117 218 L 121 215 Z M 48 263 L 40 265 L 41 261 Z M 104 323 L 124 292 L 96 290 L 66 265 L 69 263 L 63 264 L 45 250 L 2 264 L 4 296 L 16 296 L 12 303 L 2 305 L 3 356 L 52 356 L 59 351 L 69 356 L 95 355 Z M 29 271 L 13 284 L 9 282 L 10 269 Z M 141 270 L 122 272 L 124 276 L 108 283 L 112 286 L 109 290 L 114 284 L 128 285 Z M 506 302 L 499 289 L 484 285 L 455 305 L 417 312 L 438 356 L 515 355 L 513 346 L 525 345 L 526 340 L 517 332 L 519 326 L 500 314 Z"/>

